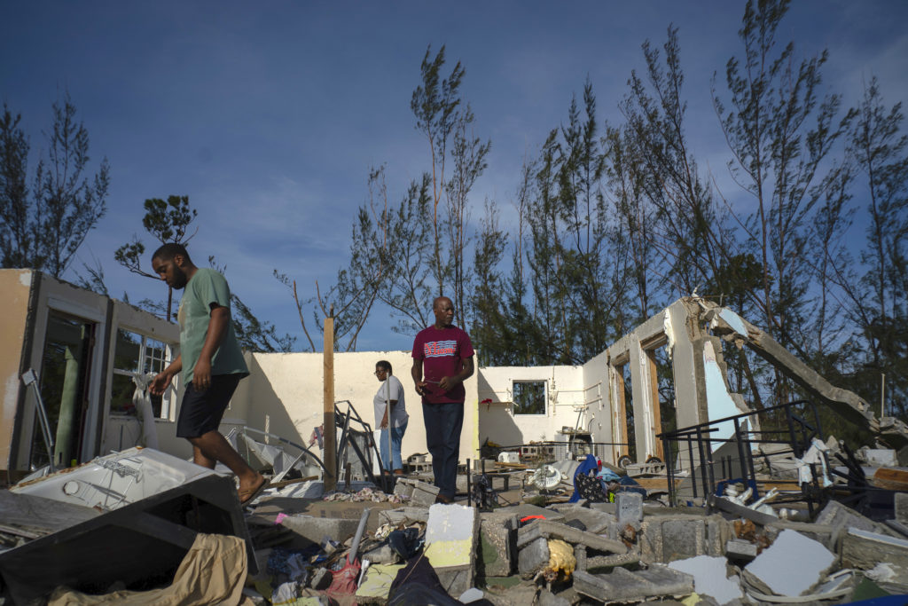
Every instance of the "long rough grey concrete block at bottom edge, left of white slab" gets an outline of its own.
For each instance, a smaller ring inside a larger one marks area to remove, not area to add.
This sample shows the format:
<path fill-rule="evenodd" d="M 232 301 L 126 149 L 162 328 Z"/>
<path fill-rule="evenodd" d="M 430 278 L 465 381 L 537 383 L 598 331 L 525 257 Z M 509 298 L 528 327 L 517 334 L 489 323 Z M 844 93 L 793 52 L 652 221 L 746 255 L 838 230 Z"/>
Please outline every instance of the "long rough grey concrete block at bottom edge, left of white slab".
<path fill-rule="evenodd" d="M 654 564 L 644 571 L 616 568 L 608 574 L 574 572 L 574 590 L 604 603 L 644 601 L 647 598 L 690 595 L 694 577 Z"/>

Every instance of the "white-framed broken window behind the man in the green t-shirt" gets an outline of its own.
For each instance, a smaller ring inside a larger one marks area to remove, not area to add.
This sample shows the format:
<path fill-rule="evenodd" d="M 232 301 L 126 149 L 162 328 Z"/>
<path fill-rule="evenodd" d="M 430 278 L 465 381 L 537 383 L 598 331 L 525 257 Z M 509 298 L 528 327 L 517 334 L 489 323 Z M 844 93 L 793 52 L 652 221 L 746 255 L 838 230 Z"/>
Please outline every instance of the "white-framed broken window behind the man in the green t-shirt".
<path fill-rule="evenodd" d="M 138 416 L 133 404 L 134 376 L 157 374 L 169 363 L 173 352 L 170 345 L 139 333 L 117 330 L 114 353 L 114 381 L 111 385 L 111 414 Z M 170 419 L 174 390 L 152 395 L 152 410 L 158 419 Z"/>

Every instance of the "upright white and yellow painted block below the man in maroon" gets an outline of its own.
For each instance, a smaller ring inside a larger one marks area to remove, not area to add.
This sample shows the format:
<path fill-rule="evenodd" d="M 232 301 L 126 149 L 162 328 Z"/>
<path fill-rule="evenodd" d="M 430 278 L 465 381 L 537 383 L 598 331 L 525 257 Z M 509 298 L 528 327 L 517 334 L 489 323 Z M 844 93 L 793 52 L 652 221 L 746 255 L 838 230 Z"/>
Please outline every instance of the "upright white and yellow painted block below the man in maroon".
<path fill-rule="evenodd" d="M 450 595 L 474 586 L 479 515 L 472 507 L 435 504 L 426 525 L 426 558 Z"/>

